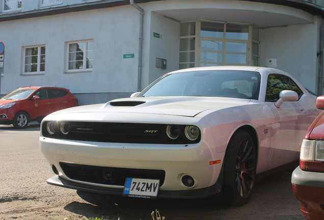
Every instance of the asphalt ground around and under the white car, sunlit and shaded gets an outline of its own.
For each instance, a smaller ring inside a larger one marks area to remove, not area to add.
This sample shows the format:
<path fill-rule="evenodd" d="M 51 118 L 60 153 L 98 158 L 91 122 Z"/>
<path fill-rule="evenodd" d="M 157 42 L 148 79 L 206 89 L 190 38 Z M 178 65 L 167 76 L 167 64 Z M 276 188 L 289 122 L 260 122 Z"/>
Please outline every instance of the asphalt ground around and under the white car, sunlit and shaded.
<path fill-rule="evenodd" d="M 74 220 L 102 217 L 110 220 L 149 220 L 158 210 L 166 220 L 305 220 L 292 194 L 291 172 L 281 171 L 256 182 L 251 202 L 226 207 L 215 200 L 129 199 L 105 196 L 98 207 L 75 190 L 46 184 L 53 176 L 38 144 L 39 124 L 16 130 L 0 125 L 0 220 Z M 155 218 L 156 219 L 156 218 Z"/>

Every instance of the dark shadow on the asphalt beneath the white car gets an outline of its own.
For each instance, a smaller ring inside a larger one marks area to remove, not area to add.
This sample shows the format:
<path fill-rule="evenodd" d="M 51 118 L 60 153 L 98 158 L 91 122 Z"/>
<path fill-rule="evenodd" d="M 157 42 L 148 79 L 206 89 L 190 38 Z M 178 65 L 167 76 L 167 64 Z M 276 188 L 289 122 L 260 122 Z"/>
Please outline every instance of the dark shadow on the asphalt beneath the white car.
<path fill-rule="evenodd" d="M 217 197 L 203 200 L 155 200 L 89 194 L 86 201 L 91 201 L 89 197 L 92 195 L 92 200 L 96 203 L 72 202 L 64 209 L 88 218 L 102 217 L 110 220 L 152 219 L 151 212 L 155 210 L 165 216 L 166 220 L 305 219 L 300 212 L 299 202 L 292 193 L 292 171 L 293 169 L 282 170 L 258 180 L 250 203 L 240 207 L 224 206 L 217 201 Z M 77 194 L 85 200 L 86 197 L 82 195 L 84 192 L 77 191 Z"/>

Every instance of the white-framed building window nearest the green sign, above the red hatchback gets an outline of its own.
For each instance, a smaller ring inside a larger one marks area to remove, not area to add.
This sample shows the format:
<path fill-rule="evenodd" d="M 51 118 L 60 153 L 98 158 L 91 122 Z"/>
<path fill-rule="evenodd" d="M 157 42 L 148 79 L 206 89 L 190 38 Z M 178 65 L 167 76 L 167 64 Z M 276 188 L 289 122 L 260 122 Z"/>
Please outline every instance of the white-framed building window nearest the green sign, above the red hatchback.
<path fill-rule="evenodd" d="M 88 71 L 93 63 L 93 41 L 69 42 L 67 45 L 67 71 Z"/>

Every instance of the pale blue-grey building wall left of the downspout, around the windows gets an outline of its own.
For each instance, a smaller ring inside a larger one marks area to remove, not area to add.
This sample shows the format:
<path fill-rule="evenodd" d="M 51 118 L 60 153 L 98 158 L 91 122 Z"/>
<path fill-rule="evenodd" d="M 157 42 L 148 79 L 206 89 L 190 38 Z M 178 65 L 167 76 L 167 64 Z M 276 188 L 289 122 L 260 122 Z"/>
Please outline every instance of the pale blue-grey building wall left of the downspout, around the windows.
<path fill-rule="evenodd" d="M 5 64 L 1 94 L 21 86 L 66 87 L 72 93 L 137 90 L 139 13 L 131 6 L 0 22 Z M 93 39 L 92 72 L 65 73 L 66 42 Z M 21 75 L 24 46 L 46 45 L 45 74 Z M 124 59 L 123 54 L 134 53 Z"/>

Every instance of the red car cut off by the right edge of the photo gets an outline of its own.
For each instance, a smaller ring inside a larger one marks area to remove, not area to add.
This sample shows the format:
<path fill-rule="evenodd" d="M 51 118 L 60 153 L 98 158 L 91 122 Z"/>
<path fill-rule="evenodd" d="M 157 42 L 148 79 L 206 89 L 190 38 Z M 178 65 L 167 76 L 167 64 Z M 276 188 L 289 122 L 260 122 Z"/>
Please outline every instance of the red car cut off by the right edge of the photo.
<path fill-rule="evenodd" d="M 317 97 L 316 107 L 324 109 L 324 96 Z M 324 111 L 307 131 L 301 147 L 300 165 L 293 171 L 291 183 L 304 217 L 324 219 Z"/>

